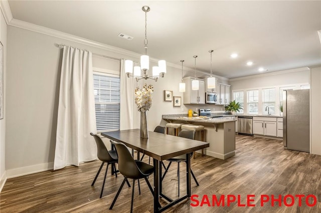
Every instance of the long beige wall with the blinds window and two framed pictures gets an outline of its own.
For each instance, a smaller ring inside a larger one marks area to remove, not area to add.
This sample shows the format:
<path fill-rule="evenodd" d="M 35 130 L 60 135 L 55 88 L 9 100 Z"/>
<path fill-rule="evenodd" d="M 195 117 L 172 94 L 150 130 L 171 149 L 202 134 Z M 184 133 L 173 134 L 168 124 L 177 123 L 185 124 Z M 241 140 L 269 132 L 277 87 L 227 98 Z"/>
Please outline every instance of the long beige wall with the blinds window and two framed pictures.
<path fill-rule="evenodd" d="M 71 45 L 91 50 L 97 54 L 138 61 L 138 58 L 120 53 L 8 26 L 9 71 L 6 91 L 6 169 L 8 177 L 53 167 L 62 54 L 62 50 L 56 44 Z M 179 61 L 178 64 L 180 64 Z M 150 64 L 152 65 L 153 63 Z M 154 86 L 152 106 L 147 112 L 149 130 L 153 130 L 156 125 L 164 122 L 162 114 L 187 113 L 188 107 L 192 107 L 184 105 L 182 108 L 174 107 L 173 101 L 164 101 L 164 90 L 173 90 L 174 95 L 183 96 L 178 89 L 181 73 L 181 69 L 168 66 L 165 77 L 158 79 L 157 82 L 140 80 L 136 83 L 141 85 L 146 82 Z M 184 71 L 184 75 L 194 76 L 194 72 Z M 197 77 L 201 75 L 197 74 Z M 121 117 L 121 122 L 127 122 L 128 119 L 133 119 L 134 127 L 139 127 L 138 113 L 132 118 Z"/>

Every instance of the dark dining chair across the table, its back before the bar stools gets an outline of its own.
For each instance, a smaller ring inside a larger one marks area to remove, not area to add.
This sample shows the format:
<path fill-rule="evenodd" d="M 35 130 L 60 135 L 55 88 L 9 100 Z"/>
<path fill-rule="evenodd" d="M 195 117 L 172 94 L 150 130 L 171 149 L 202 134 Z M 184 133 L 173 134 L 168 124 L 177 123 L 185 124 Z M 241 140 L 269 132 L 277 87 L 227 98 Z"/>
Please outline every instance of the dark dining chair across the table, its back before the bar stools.
<path fill-rule="evenodd" d="M 187 129 L 182 129 L 180 132 L 179 132 L 179 137 L 185 137 L 185 138 L 189 138 L 189 139 L 194 139 L 195 138 L 195 130 L 187 130 Z M 190 153 L 190 157 L 193 156 L 193 152 Z M 178 176 L 178 196 L 180 196 L 180 162 L 186 162 L 186 154 L 182 154 L 182 155 L 179 155 L 179 156 L 176 156 L 176 157 L 172 157 L 172 158 L 169 158 L 167 159 L 170 163 L 168 164 L 167 168 L 165 169 L 165 172 L 162 176 L 162 181 L 166 175 L 166 173 L 168 172 L 172 162 L 177 162 L 177 176 Z M 199 182 L 197 181 L 192 169 L 191 169 L 191 174 L 196 182 L 197 185 L 200 185 Z"/>

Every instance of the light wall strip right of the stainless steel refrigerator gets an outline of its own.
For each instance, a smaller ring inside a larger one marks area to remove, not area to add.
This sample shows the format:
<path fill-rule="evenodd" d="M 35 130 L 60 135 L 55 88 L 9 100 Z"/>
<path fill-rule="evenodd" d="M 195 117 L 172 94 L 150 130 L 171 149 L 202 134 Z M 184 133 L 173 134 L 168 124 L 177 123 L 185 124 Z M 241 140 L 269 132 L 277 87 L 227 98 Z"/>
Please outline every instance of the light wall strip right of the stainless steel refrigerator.
<path fill-rule="evenodd" d="M 311 153 L 321 155 L 321 66 L 310 71 Z"/>

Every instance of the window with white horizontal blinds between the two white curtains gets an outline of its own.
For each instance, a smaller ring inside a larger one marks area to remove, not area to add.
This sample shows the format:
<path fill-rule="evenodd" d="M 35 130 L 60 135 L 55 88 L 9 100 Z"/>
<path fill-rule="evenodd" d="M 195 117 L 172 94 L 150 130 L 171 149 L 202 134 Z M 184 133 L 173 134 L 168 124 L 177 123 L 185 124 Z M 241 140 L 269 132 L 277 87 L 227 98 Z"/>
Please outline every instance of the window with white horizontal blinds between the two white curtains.
<path fill-rule="evenodd" d="M 119 130 L 120 77 L 94 73 L 97 132 Z"/>

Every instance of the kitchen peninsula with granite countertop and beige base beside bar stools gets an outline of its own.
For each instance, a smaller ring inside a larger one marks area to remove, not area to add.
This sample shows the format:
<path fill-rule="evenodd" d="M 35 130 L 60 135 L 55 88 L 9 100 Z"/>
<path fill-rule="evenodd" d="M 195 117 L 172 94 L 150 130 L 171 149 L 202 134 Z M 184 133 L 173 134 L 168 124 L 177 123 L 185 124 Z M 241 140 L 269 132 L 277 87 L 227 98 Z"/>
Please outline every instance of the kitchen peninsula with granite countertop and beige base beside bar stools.
<path fill-rule="evenodd" d="M 168 122 L 203 125 L 204 140 L 210 143 L 210 147 L 204 149 L 206 155 L 220 159 L 235 155 L 235 116 L 205 118 L 164 114 L 162 118 Z M 200 137 L 195 139 L 201 140 Z"/>

